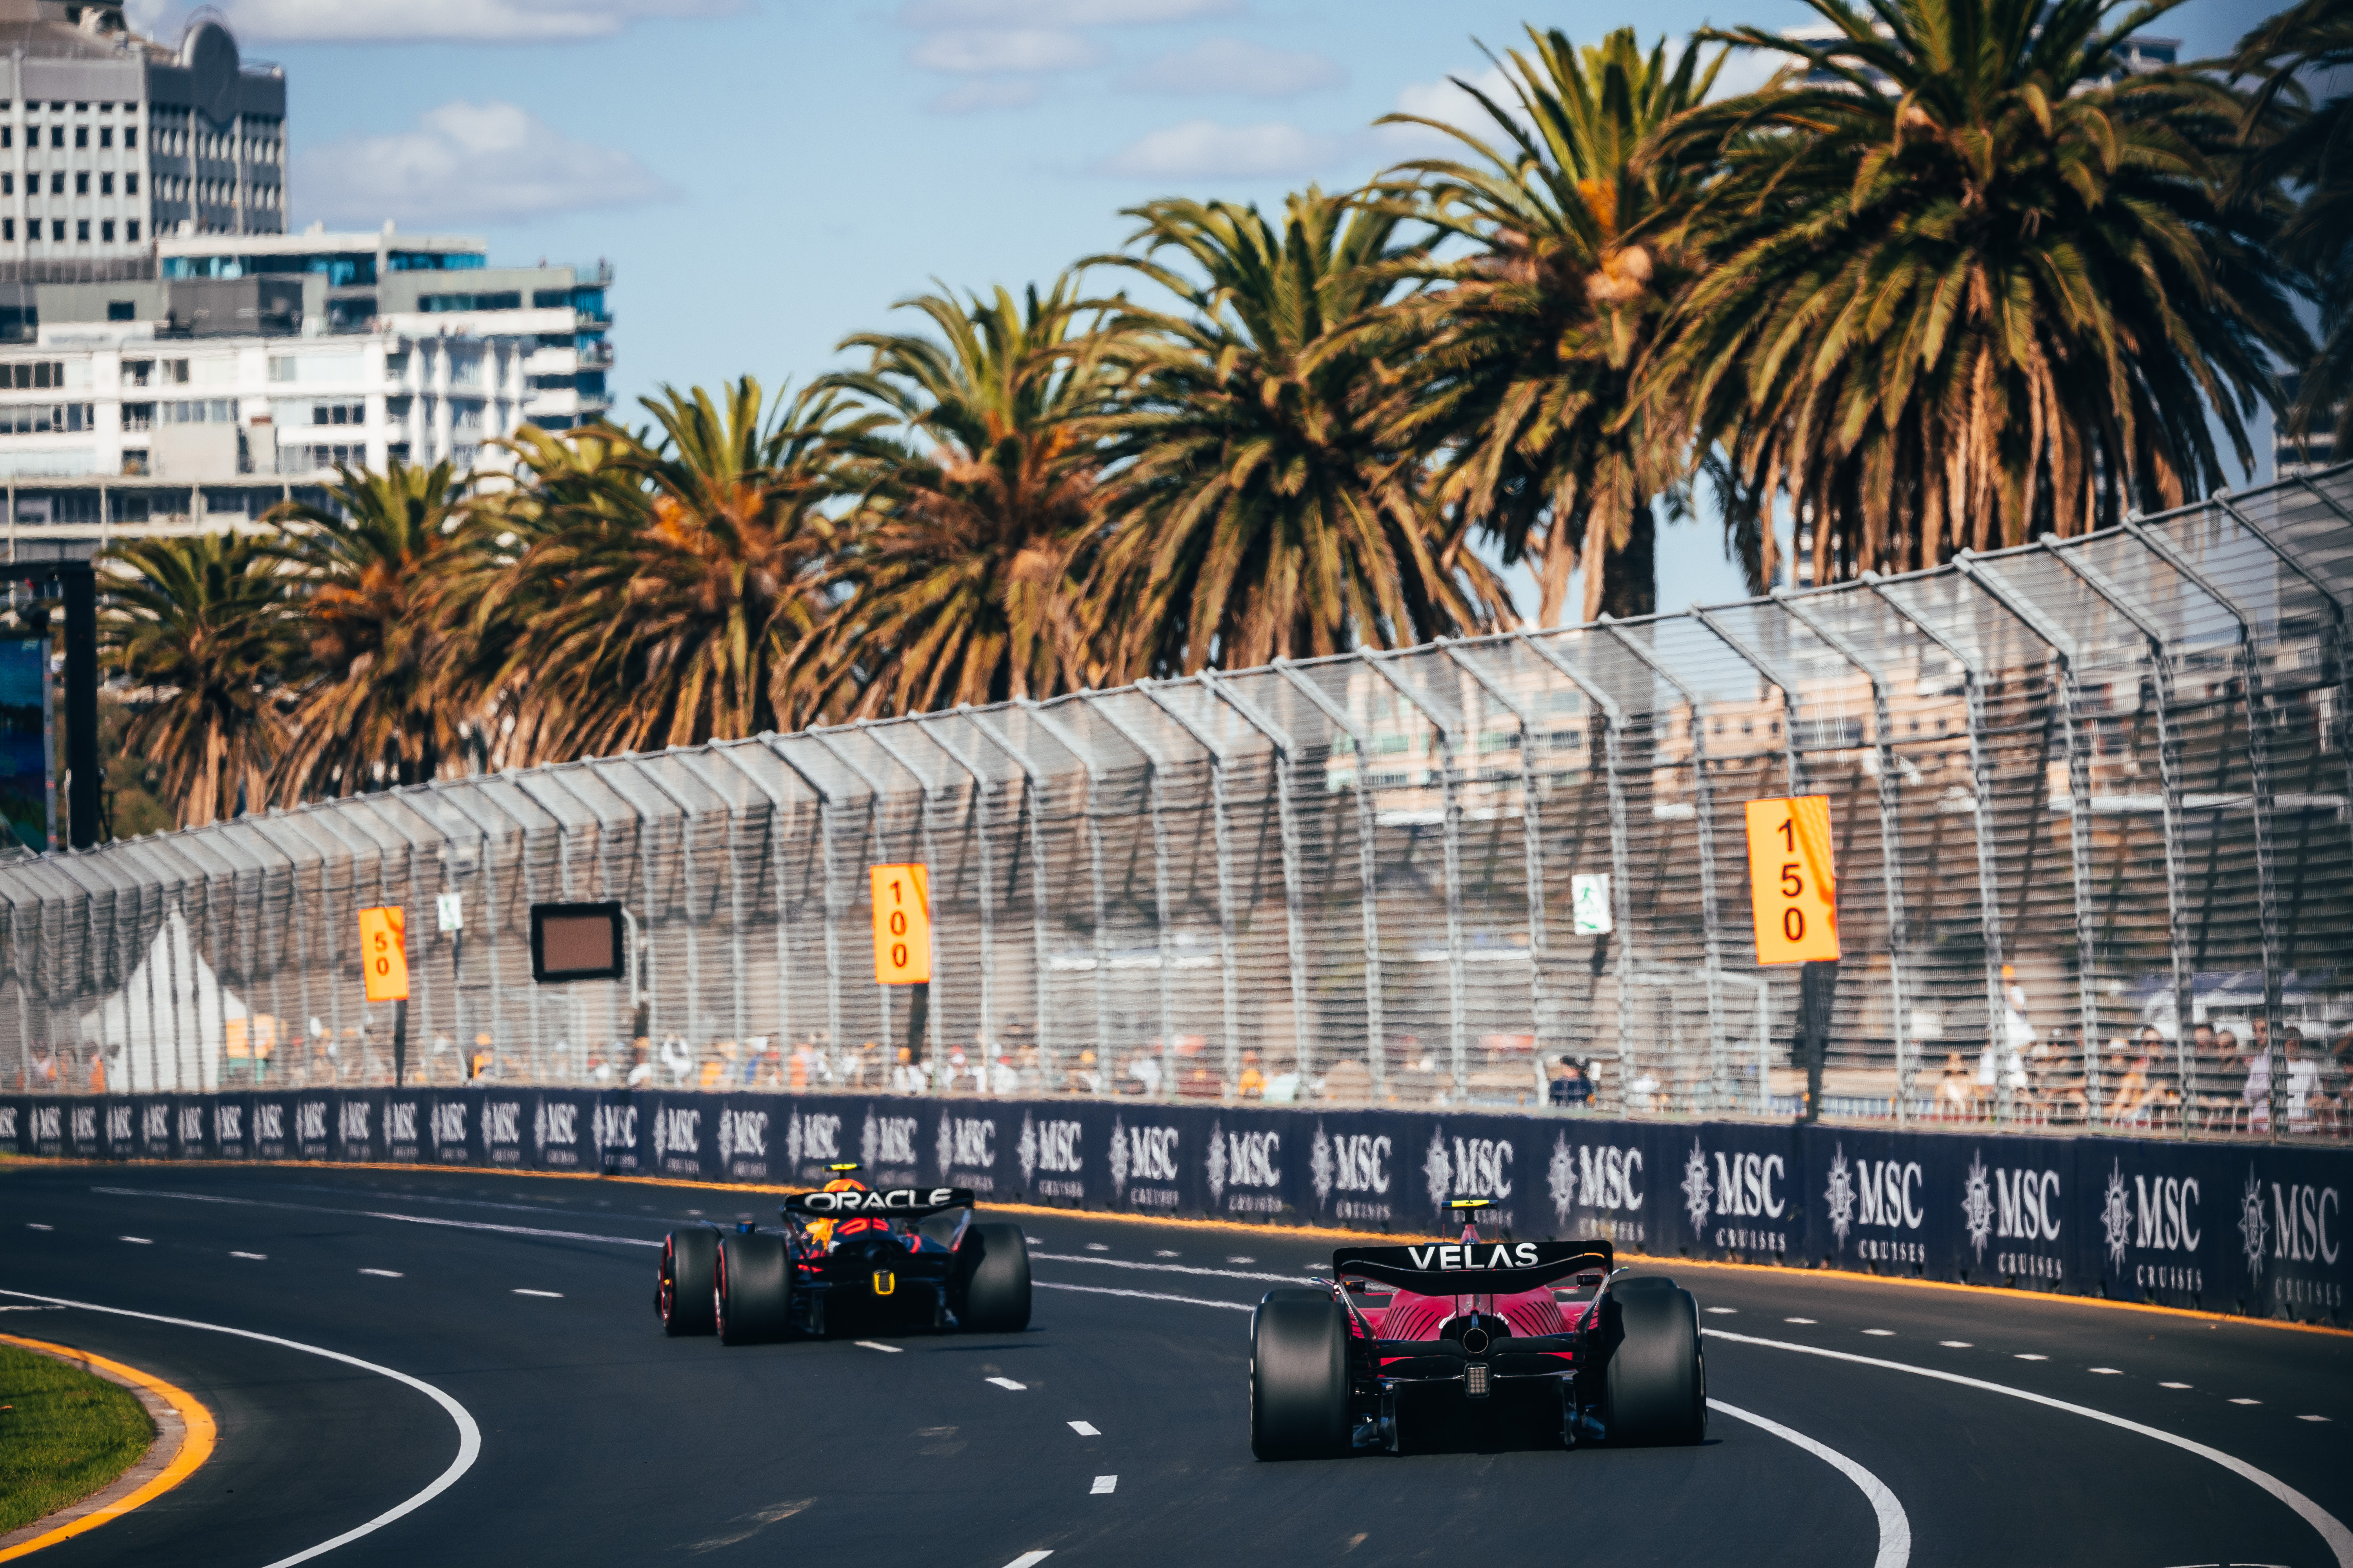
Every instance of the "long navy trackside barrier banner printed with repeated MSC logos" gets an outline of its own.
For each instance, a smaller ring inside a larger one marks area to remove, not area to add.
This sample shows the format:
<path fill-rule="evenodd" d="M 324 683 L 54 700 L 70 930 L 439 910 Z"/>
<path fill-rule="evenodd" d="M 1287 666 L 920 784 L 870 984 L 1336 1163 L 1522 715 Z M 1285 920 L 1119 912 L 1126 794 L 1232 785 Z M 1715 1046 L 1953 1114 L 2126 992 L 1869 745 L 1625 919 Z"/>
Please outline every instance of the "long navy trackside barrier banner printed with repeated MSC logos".
<path fill-rule="evenodd" d="M 2346 1321 L 2353 1150 L 1151 1100 L 558 1088 L 0 1098 L 0 1154 L 819 1185 L 1513 1237 Z"/>

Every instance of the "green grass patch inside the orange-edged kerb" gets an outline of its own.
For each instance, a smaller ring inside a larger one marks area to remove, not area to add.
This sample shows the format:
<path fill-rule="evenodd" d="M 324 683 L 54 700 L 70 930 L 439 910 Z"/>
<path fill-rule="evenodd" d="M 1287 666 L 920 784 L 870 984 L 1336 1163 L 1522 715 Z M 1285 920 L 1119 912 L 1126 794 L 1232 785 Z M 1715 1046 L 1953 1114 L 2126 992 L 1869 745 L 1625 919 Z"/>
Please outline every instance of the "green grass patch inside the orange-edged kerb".
<path fill-rule="evenodd" d="M 99 1490 L 155 1441 L 127 1387 L 0 1345 L 0 1535 Z"/>

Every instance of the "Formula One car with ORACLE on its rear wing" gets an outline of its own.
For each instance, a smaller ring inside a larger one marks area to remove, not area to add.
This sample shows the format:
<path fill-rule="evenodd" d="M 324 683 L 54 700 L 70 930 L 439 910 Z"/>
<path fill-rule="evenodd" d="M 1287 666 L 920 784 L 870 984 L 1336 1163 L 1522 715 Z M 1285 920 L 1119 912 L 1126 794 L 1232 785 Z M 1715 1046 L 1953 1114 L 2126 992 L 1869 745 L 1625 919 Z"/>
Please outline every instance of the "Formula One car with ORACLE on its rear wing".
<path fill-rule="evenodd" d="M 673 1229 L 654 1284 L 664 1331 L 758 1345 L 1028 1326 L 1028 1241 L 1019 1225 L 976 1225 L 965 1187 L 868 1190 L 852 1171 L 835 1166 L 824 1192 L 788 1197 L 776 1229 Z M 953 1225 L 944 1218 L 951 1213 Z M 925 1220 L 936 1225 L 927 1229 Z"/>

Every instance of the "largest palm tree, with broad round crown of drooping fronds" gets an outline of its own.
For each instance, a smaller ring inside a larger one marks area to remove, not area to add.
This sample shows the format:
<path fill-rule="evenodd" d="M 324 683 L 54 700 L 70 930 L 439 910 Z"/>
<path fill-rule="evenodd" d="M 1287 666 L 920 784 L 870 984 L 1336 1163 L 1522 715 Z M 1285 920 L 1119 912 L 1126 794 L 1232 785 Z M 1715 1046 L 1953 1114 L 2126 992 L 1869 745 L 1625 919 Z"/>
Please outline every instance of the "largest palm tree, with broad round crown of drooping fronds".
<path fill-rule="evenodd" d="M 2111 0 L 1807 0 L 1833 28 L 1708 38 L 1805 66 L 1697 108 L 1659 158 L 1720 153 L 1692 230 L 1713 268 L 1675 313 L 1654 404 L 1786 491 L 1814 576 L 2075 534 L 2240 465 L 2304 331 L 2226 202 L 2240 101 L 2134 73 Z M 1767 564 L 1769 571 L 1769 564 Z"/>

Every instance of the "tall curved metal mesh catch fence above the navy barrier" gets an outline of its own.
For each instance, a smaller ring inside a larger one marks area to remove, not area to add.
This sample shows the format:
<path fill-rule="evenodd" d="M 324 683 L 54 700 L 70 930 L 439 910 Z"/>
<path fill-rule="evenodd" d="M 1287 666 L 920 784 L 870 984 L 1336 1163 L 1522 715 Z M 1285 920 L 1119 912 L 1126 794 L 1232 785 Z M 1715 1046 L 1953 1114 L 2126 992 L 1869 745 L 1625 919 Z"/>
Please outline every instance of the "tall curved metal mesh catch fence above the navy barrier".
<path fill-rule="evenodd" d="M 2353 465 L 1901 578 L 659 755 L 0 865 L 45 1091 L 426 1081 L 1800 1107 L 1746 799 L 1828 795 L 1840 1119 L 2344 1135 Z M 932 867 L 920 1048 L 871 863 Z M 433 929 L 464 903 L 464 943 Z M 649 1004 L 534 987 L 628 905 Z M 1574 1065 L 1574 1072 L 1572 1072 Z"/>

